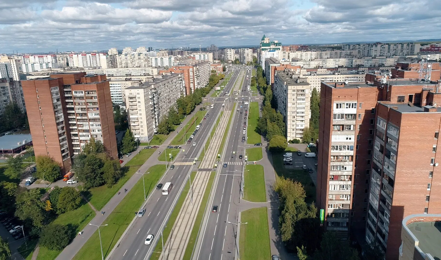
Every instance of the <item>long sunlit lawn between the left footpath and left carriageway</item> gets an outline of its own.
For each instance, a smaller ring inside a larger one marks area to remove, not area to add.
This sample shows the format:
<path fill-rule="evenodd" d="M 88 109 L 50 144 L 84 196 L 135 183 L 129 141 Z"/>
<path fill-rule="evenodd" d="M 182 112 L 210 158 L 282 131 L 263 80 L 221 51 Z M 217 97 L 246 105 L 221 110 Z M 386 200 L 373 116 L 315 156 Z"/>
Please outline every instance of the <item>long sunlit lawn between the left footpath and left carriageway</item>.
<path fill-rule="evenodd" d="M 165 172 L 165 165 L 158 164 L 150 167 L 147 172 L 149 174 L 144 176 L 146 185 L 146 194 L 151 193 Z M 107 227 L 102 227 L 101 240 L 103 244 L 104 257 L 112 250 L 118 239 L 126 230 L 134 218 L 133 212 L 139 210 L 144 202 L 144 193 L 142 188 L 142 178 L 135 184 L 135 186 L 129 191 L 126 197 L 116 206 L 115 210 L 110 213 L 103 222 L 103 225 L 108 224 Z M 74 256 L 74 260 L 100 260 L 100 240 L 98 238 L 98 230 L 93 233 L 92 237 L 86 242 L 85 245 Z"/>

